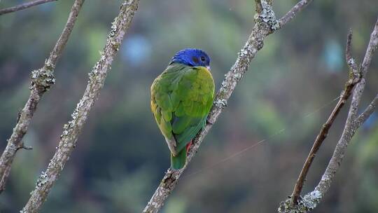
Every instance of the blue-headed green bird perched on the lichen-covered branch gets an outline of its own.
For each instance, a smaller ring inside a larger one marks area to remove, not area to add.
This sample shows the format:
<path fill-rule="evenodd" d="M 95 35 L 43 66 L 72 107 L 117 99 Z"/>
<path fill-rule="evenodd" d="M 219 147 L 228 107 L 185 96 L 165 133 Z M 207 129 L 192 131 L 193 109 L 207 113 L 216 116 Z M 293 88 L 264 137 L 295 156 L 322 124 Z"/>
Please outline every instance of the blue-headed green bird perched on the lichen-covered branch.
<path fill-rule="evenodd" d="M 214 102 L 210 57 L 203 50 L 185 48 L 151 85 L 151 111 L 165 137 L 171 168 L 180 170 L 193 138 L 207 123 Z"/>

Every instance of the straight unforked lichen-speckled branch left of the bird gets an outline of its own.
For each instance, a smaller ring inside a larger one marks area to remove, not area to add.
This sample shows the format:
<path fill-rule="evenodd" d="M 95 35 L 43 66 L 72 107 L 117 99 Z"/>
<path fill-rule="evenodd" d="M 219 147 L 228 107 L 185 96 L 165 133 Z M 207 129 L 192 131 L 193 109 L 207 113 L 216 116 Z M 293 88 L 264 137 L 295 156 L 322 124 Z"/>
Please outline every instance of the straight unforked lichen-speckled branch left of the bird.
<path fill-rule="evenodd" d="M 31 192 L 31 197 L 21 212 L 38 212 L 47 198 L 50 189 L 62 172 L 64 165 L 69 160 L 69 156 L 71 156 L 76 146 L 78 135 L 85 121 L 87 121 L 90 109 L 92 109 L 94 102 L 99 96 L 101 88 L 104 86 L 106 74 L 111 69 L 113 58 L 120 48 L 120 44 L 127 33 L 138 5 L 139 0 L 126 0 L 121 6 L 120 13 L 111 25 L 111 31 L 109 32 L 103 53 L 92 71 L 90 71 L 84 95 L 78 102 L 75 111 L 73 111 L 71 121 L 64 125 L 57 151 L 50 160 L 47 170 L 42 172 L 38 178 L 36 188 Z"/>

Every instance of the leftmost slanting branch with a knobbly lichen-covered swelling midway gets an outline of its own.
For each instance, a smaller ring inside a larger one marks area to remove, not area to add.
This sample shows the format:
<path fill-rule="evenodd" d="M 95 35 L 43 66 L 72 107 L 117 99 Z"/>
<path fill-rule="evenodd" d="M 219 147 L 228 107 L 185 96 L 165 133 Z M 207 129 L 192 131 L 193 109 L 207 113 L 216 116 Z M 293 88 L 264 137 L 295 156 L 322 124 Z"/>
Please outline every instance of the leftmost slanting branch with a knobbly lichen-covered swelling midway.
<path fill-rule="evenodd" d="M 76 0 L 71 8 L 69 13 L 69 18 L 64 26 L 62 34 L 60 34 L 55 47 L 50 53 L 50 56 L 45 60 L 45 64 L 41 69 L 31 71 L 31 86 L 30 86 L 30 96 L 27 100 L 24 109 L 20 111 L 18 115 L 18 122 L 13 128 L 13 133 L 8 139 L 8 144 L 6 149 L 3 151 L 3 154 L 0 158 L 0 188 L 4 188 L 3 184 L 6 184 L 6 179 L 8 179 L 8 174 L 10 167 L 12 165 L 13 159 L 15 158 L 16 152 L 20 148 L 24 148 L 22 143 L 22 138 L 29 128 L 31 118 L 36 111 L 36 107 L 41 100 L 43 94 L 50 89 L 51 85 L 55 83 L 54 78 L 54 69 L 57 64 L 57 60 L 62 51 L 66 46 L 66 43 L 69 39 L 69 36 L 72 32 L 73 26 L 75 25 L 76 18 L 80 11 L 81 6 L 83 5 L 84 0 Z M 6 172 L 8 170 L 8 172 Z M 0 191 L 1 193 L 1 191 Z"/>

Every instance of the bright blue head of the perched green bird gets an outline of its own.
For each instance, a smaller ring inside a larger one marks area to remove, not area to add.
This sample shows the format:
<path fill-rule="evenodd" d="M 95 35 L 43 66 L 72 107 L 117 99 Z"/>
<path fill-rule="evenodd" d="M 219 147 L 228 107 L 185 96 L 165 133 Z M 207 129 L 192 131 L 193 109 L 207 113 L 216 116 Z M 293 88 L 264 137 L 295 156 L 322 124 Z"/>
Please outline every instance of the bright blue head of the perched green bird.
<path fill-rule="evenodd" d="M 190 67 L 207 67 L 210 69 L 210 57 L 203 50 L 186 48 L 177 52 L 172 63 L 186 64 Z"/>

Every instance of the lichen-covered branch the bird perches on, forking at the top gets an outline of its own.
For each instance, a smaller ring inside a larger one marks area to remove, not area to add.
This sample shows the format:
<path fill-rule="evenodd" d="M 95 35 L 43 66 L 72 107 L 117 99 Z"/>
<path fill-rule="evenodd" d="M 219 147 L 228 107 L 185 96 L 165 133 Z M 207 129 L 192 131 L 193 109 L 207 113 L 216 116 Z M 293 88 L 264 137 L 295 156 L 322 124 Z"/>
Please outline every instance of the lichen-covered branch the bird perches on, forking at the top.
<path fill-rule="evenodd" d="M 302 1 L 307 2 L 304 0 Z M 223 80 L 221 89 L 218 91 L 214 100 L 214 105 L 209 113 L 209 122 L 207 123 L 206 127 L 197 134 L 195 139 L 193 139 L 193 145 L 187 157 L 187 165 L 195 156 L 195 153 L 197 153 L 202 140 L 207 135 L 207 132 L 209 132 L 212 125 L 216 122 L 218 116 L 227 106 L 228 99 L 232 95 L 232 92 L 235 90 L 237 83 L 241 78 L 243 78 L 246 70 L 249 67 L 249 64 L 251 63 L 251 60 L 255 57 L 258 50 L 260 50 L 264 45 L 264 39 L 269 34 L 272 34 L 276 29 L 279 29 L 280 27 L 283 27 L 283 25 L 286 25 L 286 23 L 289 21 L 286 20 L 283 22 L 283 19 L 277 21 L 274 15 L 274 11 L 272 10 L 272 5 L 269 4 L 269 2 L 265 0 L 259 1 L 259 4 L 261 3 L 262 6 L 261 13 L 257 13 L 255 15 L 255 26 L 253 27 L 252 32 L 244 45 L 244 48 L 240 50 L 237 61 L 232 66 L 231 70 L 228 71 L 227 74 L 225 74 L 225 79 Z M 292 13 L 292 15 L 294 16 L 296 13 L 300 12 L 302 8 L 304 8 L 304 6 L 307 4 L 308 3 L 302 4 L 303 6 L 301 6 L 299 9 L 295 11 L 293 11 L 292 9 L 289 13 Z M 287 16 L 288 15 L 286 14 L 284 17 Z M 281 23 L 281 25 L 279 25 L 279 23 Z M 163 177 L 151 200 L 144 208 L 145 213 L 155 213 L 159 211 L 162 205 L 164 205 L 164 202 L 168 198 L 169 194 L 173 191 L 174 187 L 177 184 L 177 181 L 181 177 L 181 174 L 186 169 L 186 166 L 183 167 L 182 170 L 178 171 L 171 169 L 167 170 L 165 177 Z"/>

